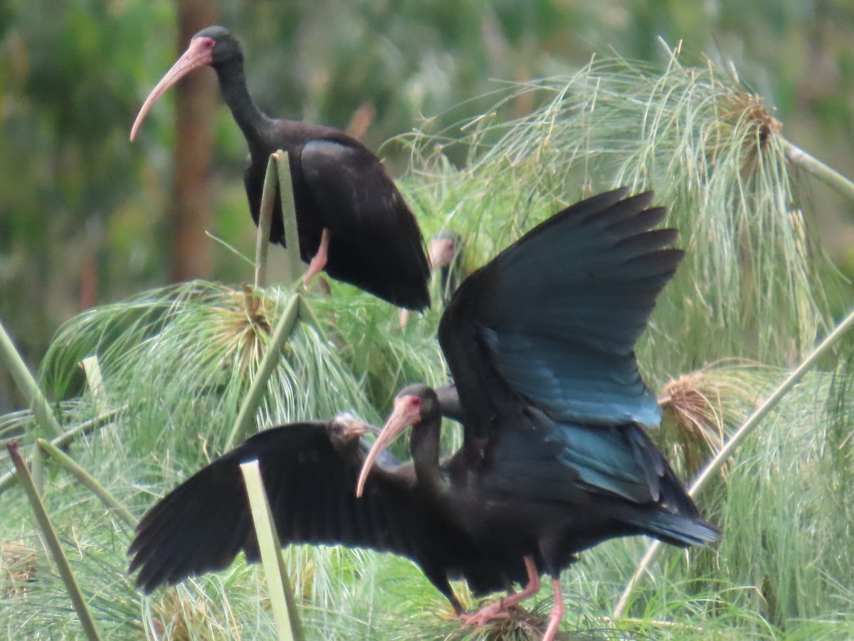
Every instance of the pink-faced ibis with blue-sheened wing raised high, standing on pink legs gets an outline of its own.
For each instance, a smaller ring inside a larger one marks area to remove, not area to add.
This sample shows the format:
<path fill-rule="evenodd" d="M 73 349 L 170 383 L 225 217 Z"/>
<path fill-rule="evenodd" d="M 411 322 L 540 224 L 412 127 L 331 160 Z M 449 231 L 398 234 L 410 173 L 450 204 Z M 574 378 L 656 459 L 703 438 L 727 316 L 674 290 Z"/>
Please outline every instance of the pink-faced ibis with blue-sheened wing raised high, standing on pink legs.
<path fill-rule="evenodd" d="M 407 426 L 418 484 L 480 553 L 524 556 L 529 585 L 471 617 L 484 621 L 553 578 L 544 639 L 564 613 L 559 576 L 605 539 L 646 534 L 687 547 L 720 534 L 700 519 L 643 426 L 658 403 L 635 342 L 682 252 L 652 193 L 576 203 L 472 273 L 442 315 L 439 343 L 459 394 L 462 448 L 439 463 L 440 403 L 407 387 L 360 474 Z M 452 388 L 446 388 L 447 396 Z M 452 394 L 453 396 L 453 394 Z"/>

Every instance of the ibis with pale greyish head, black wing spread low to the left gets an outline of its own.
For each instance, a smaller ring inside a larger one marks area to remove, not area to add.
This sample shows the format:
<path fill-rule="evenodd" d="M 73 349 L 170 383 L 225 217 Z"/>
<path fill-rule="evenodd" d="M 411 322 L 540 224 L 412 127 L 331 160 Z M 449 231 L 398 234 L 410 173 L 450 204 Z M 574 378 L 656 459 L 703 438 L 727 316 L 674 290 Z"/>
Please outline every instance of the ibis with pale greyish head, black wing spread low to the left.
<path fill-rule="evenodd" d="M 365 431 L 348 415 L 328 424 L 273 427 L 202 468 L 140 520 L 129 550 L 130 572 L 139 569 L 137 586 L 150 592 L 222 569 L 241 550 L 249 562 L 258 560 L 239 469 L 256 458 L 283 544 L 343 544 L 405 556 L 458 615 L 463 607 L 448 579 L 465 579 L 477 595 L 524 582 L 523 559 L 488 562 L 431 502 L 412 464 L 383 452 L 357 498 L 356 479 L 371 445 L 361 438 Z"/>

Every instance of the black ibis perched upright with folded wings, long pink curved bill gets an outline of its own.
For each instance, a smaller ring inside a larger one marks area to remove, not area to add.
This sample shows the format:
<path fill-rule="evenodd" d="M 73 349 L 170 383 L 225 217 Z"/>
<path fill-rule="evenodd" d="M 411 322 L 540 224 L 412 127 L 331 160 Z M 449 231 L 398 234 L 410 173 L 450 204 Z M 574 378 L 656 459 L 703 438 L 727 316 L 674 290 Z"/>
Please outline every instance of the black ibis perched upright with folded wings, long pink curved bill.
<path fill-rule="evenodd" d="M 145 99 L 131 139 L 156 100 L 204 66 L 216 71 L 225 103 L 249 144 L 243 180 L 256 225 L 269 157 L 277 150 L 288 152 L 300 256 L 309 263 L 306 279 L 323 269 L 399 307 L 430 307 L 424 239 L 377 156 L 334 127 L 262 114 L 246 87 L 243 51 L 225 27 L 208 26 L 190 39 L 184 55 Z M 278 192 L 270 241 L 285 243 Z"/>

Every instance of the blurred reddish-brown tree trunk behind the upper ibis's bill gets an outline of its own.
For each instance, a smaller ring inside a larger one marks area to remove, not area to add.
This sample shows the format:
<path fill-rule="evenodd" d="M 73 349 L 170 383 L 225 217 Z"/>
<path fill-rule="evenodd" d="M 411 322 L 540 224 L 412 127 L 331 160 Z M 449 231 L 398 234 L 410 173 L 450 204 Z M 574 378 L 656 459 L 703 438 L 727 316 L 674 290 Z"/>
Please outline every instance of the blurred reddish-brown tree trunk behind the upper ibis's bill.
<path fill-rule="evenodd" d="M 178 0 L 178 51 L 186 49 L 194 33 L 216 22 L 216 9 L 208 0 Z M 176 90 L 173 282 L 212 274 L 205 231 L 213 221 L 207 173 L 213 147 L 216 77 L 202 69 L 181 80 Z"/>

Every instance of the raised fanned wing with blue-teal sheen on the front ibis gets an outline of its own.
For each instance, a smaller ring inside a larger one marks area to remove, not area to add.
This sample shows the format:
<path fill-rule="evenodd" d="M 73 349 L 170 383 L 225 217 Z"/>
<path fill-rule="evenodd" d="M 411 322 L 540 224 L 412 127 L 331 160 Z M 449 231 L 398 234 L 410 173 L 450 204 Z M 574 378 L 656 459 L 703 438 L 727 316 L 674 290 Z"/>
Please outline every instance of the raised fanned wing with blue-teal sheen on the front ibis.
<path fill-rule="evenodd" d="M 658 403 L 635 342 L 676 271 L 673 229 L 652 192 L 588 198 L 536 226 L 465 280 L 439 340 L 471 434 L 523 398 L 556 419 L 587 425 L 658 424 Z"/>

